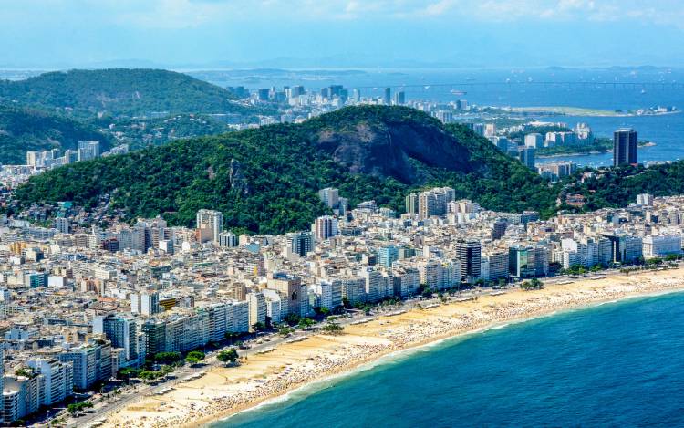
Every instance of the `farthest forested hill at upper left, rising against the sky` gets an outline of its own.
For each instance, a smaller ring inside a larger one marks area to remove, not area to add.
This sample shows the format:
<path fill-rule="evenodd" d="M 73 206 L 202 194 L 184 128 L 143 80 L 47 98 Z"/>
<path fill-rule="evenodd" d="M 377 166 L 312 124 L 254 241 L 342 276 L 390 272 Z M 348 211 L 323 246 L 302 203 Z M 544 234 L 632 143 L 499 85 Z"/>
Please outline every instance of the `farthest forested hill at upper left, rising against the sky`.
<path fill-rule="evenodd" d="M 56 71 L 19 81 L 0 81 L 0 101 L 15 101 L 78 117 L 171 113 L 241 113 L 226 89 L 161 69 L 110 68 Z"/>

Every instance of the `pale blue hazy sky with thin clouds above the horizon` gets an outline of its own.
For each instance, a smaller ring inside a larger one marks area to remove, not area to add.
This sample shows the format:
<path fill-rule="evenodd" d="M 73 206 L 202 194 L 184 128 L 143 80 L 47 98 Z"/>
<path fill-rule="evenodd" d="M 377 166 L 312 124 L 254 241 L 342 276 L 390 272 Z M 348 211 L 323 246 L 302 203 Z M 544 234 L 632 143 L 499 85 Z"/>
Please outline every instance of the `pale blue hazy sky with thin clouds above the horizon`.
<path fill-rule="evenodd" d="M 684 66 L 683 0 L 0 0 L 0 68 Z"/>

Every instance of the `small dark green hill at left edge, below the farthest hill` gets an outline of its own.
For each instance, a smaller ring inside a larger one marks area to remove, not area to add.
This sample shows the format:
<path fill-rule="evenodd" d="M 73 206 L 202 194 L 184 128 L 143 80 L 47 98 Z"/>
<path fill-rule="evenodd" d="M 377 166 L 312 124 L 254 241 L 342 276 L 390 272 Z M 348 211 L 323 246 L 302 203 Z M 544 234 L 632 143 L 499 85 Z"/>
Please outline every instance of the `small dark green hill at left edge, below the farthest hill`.
<path fill-rule="evenodd" d="M 109 149 L 109 137 L 93 127 L 41 110 L 0 106 L 0 164 L 25 163 L 26 151 L 78 149 L 95 140 Z"/>

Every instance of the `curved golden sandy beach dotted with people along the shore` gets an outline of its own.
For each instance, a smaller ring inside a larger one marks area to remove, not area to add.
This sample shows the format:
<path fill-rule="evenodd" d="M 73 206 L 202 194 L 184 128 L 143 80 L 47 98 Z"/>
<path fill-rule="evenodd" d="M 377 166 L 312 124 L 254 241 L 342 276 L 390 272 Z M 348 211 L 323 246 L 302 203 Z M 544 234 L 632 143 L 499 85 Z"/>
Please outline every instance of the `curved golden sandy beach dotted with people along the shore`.
<path fill-rule="evenodd" d="M 225 418 L 313 381 L 351 371 L 392 352 L 436 340 L 622 298 L 684 290 L 684 269 L 584 277 L 541 290 L 510 290 L 477 300 L 416 308 L 314 335 L 250 355 L 237 367 L 209 367 L 163 395 L 143 396 L 107 416 L 104 426 L 196 427 Z M 162 388 L 163 385 L 160 386 Z"/>

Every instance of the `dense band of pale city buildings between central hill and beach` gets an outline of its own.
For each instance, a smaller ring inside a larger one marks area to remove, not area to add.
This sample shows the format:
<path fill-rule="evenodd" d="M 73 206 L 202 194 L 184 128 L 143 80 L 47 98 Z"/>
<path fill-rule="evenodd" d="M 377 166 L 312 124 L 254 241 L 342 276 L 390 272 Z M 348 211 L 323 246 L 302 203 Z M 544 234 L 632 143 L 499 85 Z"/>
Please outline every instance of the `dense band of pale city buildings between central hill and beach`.
<path fill-rule="evenodd" d="M 3 218 L 5 421 L 160 352 L 322 311 L 681 253 L 684 197 L 541 220 L 484 210 L 450 188 L 409 194 L 400 215 L 374 201 L 341 211 L 336 189 L 320 195 L 331 213 L 286 235 L 233 234 L 212 210 L 192 229 L 155 218 L 101 230 L 69 204 L 53 229 Z"/>

